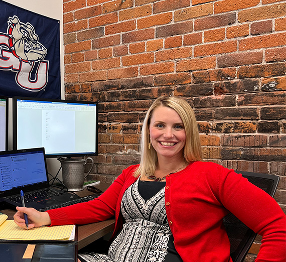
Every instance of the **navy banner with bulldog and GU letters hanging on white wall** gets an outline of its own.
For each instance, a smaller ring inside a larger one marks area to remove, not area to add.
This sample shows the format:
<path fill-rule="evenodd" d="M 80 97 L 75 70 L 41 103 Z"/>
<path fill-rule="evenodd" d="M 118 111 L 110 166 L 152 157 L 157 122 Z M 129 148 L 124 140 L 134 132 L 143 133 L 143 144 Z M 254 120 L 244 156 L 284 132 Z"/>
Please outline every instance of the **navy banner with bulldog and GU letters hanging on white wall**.
<path fill-rule="evenodd" d="M 0 95 L 61 98 L 59 23 L 0 0 Z"/>

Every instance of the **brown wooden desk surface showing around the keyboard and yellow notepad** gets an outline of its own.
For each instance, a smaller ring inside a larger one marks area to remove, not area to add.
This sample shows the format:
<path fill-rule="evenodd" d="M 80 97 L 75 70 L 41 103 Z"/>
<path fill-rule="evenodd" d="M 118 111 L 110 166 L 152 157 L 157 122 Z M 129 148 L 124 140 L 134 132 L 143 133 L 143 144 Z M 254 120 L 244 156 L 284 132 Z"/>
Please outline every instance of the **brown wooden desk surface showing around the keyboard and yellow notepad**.
<path fill-rule="evenodd" d="M 96 187 L 104 191 L 107 189 L 109 185 L 110 184 L 107 184 L 107 183 L 100 183 L 96 185 Z M 82 191 L 77 191 L 75 193 L 81 197 L 92 194 L 86 189 Z M 7 214 L 8 219 L 13 219 L 13 216 L 16 211 L 12 209 L 3 209 L 3 210 L 0 210 L 0 212 L 2 212 L 3 214 Z M 115 219 L 108 219 L 106 221 L 102 221 L 98 223 L 79 225 L 78 226 L 78 249 L 85 247 L 86 245 L 97 240 L 98 238 L 113 231 L 114 224 L 115 224 Z"/>

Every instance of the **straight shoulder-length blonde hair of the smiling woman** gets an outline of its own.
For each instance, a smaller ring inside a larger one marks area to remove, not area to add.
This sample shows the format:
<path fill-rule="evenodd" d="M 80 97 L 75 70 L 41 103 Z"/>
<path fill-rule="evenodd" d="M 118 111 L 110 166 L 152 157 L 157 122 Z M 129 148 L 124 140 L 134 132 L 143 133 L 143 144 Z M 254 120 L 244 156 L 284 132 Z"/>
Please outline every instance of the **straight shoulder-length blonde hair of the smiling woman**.
<path fill-rule="evenodd" d="M 183 98 L 161 96 L 151 105 L 143 122 L 140 149 L 141 160 L 139 167 L 134 172 L 135 177 L 139 175 L 146 177 L 147 175 L 149 176 L 155 173 L 158 159 L 155 149 L 152 146 L 148 149 L 150 141 L 149 127 L 153 112 L 159 106 L 167 106 L 174 109 L 183 121 L 186 132 L 186 144 L 184 147 L 184 158 L 186 162 L 202 161 L 199 130 L 193 109 Z"/>

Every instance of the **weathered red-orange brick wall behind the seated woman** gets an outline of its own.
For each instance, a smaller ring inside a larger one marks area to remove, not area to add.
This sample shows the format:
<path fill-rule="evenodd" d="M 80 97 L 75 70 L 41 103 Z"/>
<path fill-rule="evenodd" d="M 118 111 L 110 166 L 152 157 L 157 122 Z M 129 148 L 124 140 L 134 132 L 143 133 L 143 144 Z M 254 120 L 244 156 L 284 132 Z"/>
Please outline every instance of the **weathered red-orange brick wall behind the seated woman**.
<path fill-rule="evenodd" d="M 203 156 L 280 176 L 286 212 L 286 1 L 64 0 L 65 94 L 99 102 L 93 177 L 138 163 L 160 95 L 194 108 Z"/>

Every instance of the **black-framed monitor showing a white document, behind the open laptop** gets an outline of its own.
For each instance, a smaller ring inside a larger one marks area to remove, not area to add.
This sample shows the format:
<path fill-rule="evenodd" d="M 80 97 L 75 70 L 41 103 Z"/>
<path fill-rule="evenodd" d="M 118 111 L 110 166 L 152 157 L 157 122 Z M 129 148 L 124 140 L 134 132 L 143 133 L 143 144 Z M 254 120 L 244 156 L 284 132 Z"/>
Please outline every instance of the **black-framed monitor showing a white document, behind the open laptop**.
<path fill-rule="evenodd" d="M 95 156 L 98 103 L 13 98 L 13 148 L 44 147 L 46 157 Z"/>

